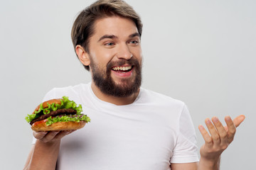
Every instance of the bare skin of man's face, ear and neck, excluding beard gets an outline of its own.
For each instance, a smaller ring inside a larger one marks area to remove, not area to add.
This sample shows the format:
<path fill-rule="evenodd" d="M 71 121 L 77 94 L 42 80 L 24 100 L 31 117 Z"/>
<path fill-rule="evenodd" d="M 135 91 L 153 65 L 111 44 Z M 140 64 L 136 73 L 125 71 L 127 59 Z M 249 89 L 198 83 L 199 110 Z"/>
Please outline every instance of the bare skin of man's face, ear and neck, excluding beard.
<path fill-rule="evenodd" d="M 97 65 L 98 72 L 106 76 L 107 64 L 118 62 L 119 60 L 130 60 L 132 57 L 142 64 L 142 48 L 140 37 L 134 22 L 127 18 L 113 16 L 103 18 L 95 23 L 95 34 L 89 40 L 89 50 L 86 52 L 80 45 L 75 50 L 80 62 L 89 65 Z M 125 66 L 129 66 L 125 64 Z M 127 86 L 130 81 L 134 81 L 136 72 L 132 71 L 130 76 L 122 76 L 111 72 L 112 80 L 118 86 Z M 129 79 L 129 81 L 124 81 Z M 92 81 L 92 91 L 97 98 L 102 101 L 114 103 L 116 105 L 126 105 L 132 103 L 137 98 L 139 91 L 124 98 L 109 96 L 102 93 Z"/>

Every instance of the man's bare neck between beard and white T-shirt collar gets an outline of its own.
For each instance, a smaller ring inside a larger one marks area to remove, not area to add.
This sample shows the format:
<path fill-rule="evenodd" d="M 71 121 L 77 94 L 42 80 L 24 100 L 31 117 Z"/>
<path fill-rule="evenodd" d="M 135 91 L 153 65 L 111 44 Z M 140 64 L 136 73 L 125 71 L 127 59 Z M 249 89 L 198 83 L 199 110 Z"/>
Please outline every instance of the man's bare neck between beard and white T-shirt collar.
<path fill-rule="evenodd" d="M 132 94 L 128 97 L 116 97 L 116 96 L 110 96 L 107 94 L 102 93 L 100 89 L 95 85 L 95 83 L 92 81 L 92 91 L 97 96 L 97 98 L 100 98 L 102 101 L 106 101 L 108 103 L 113 103 L 115 105 L 121 106 L 121 105 L 128 105 L 135 101 L 137 96 L 139 95 L 139 90 L 137 93 Z"/>

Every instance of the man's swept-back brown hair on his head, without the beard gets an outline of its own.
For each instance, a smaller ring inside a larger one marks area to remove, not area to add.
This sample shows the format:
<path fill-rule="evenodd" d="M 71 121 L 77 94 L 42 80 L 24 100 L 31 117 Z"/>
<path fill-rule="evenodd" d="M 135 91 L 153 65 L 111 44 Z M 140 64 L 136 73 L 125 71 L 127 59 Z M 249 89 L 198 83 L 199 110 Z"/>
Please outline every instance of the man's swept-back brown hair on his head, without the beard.
<path fill-rule="evenodd" d="M 81 45 L 86 52 L 89 52 L 88 43 L 94 33 L 95 21 L 108 16 L 131 19 L 136 24 L 139 35 L 142 35 L 142 21 L 132 6 L 122 0 L 99 0 L 82 10 L 75 19 L 71 30 L 74 48 Z M 89 66 L 84 65 L 84 67 L 89 70 Z"/>

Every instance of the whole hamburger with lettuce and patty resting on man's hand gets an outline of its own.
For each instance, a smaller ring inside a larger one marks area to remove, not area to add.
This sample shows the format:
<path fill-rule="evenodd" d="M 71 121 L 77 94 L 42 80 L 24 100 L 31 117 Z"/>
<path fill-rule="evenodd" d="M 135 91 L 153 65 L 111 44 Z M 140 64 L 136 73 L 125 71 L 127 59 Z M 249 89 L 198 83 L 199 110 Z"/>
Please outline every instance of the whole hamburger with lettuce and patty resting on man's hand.
<path fill-rule="evenodd" d="M 63 98 L 54 98 L 41 103 L 25 119 L 31 124 L 31 129 L 36 132 L 78 130 L 90 122 L 90 118 L 81 112 L 81 105 L 78 106 L 67 96 L 63 96 Z"/>

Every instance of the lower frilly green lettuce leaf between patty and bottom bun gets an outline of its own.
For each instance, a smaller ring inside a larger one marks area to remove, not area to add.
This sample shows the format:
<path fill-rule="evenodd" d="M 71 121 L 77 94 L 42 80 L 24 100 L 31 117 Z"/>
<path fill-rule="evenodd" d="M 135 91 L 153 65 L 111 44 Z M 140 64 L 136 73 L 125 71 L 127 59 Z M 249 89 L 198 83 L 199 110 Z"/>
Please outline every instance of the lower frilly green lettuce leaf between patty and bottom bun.
<path fill-rule="evenodd" d="M 87 123 L 90 122 L 90 118 L 87 115 L 63 115 L 63 116 L 56 116 L 52 118 L 47 118 L 48 121 L 46 121 L 46 125 L 51 125 L 53 123 L 57 122 L 68 122 L 68 121 L 73 121 L 73 122 L 80 122 L 82 120 L 86 121 Z"/>

